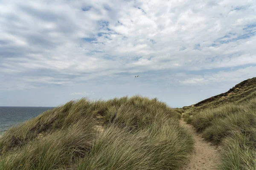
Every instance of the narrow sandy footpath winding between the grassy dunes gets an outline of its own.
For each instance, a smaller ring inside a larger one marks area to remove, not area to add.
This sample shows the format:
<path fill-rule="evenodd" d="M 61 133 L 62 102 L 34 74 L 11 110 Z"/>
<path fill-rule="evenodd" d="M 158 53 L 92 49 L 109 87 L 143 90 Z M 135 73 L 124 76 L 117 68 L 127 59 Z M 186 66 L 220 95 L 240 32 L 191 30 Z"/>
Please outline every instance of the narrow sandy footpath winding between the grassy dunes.
<path fill-rule="evenodd" d="M 221 148 L 204 141 L 201 134 L 196 133 L 195 128 L 186 124 L 183 118 L 180 120 L 180 124 L 189 129 L 195 139 L 195 149 L 189 155 L 189 162 L 181 170 L 216 170 Z"/>

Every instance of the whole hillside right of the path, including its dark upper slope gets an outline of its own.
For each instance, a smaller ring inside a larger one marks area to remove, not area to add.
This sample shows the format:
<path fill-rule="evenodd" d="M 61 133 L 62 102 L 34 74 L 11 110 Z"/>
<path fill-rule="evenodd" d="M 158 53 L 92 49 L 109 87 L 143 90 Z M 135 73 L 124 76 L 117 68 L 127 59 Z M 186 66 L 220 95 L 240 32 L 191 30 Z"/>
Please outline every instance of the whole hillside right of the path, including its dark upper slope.
<path fill-rule="evenodd" d="M 223 146 L 221 170 L 256 170 L 256 78 L 183 108 L 187 123 Z"/>

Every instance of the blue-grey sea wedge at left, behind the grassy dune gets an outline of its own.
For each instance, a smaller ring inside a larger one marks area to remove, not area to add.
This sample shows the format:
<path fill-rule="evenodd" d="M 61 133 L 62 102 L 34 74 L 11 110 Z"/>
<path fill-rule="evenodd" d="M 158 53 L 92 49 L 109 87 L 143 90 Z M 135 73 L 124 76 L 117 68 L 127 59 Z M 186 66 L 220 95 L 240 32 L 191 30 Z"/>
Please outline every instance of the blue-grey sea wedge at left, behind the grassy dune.
<path fill-rule="evenodd" d="M 10 127 L 34 118 L 52 107 L 0 107 L 0 135 Z"/>

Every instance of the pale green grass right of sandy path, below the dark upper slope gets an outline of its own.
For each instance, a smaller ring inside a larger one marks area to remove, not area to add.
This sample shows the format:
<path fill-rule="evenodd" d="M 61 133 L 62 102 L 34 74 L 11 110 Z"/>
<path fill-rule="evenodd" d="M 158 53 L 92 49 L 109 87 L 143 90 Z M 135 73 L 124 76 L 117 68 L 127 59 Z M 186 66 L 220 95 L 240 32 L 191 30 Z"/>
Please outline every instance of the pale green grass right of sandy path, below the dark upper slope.
<path fill-rule="evenodd" d="M 221 170 L 256 170 L 256 98 L 252 95 L 240 104 L 233 101 L 198 112 L 191 108 L 185 114 L 205 139 L 223 146 Z"/>

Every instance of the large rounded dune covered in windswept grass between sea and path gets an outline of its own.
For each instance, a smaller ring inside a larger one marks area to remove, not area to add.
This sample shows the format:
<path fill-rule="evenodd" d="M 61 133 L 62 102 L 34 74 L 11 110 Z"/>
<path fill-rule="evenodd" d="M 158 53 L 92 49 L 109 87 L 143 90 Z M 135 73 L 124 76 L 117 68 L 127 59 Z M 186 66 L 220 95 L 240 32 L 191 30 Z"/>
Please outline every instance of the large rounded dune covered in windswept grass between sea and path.
<path fill-rule="evenodd" d="M 181 112 L 141 96 L 70 101 L 4 133 L 0 170 L 178 170 L 194 142 Z"/>

